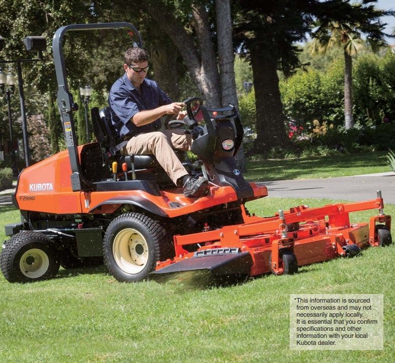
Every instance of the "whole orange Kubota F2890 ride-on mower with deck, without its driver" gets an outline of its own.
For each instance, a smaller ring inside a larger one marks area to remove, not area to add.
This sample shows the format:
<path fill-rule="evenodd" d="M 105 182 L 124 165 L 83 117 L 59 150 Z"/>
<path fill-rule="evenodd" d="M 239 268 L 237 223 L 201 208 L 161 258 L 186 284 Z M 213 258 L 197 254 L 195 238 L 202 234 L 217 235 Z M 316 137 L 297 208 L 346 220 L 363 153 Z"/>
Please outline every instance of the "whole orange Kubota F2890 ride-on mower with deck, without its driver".
<path fill-rule="evenodd" d="M 194 270 L 281 275 L 392 242 L 391 218 L 383 212 L 380 192 L 364 202 L 251 216 L 245 203 L 266 197 L 268 190 L 248 183 L 237 167 L 244 130 L 233 105 L 210 109 L 200 97 L 191 97 L 184 101 L 182 121 L 164 122 L 168 129 L 183 128 L 192 135 L 191 152 L 198 160 L 177 156 L 190 175 L 208 180 L 207 195 L 185 196 L 153 155 L 121 155 L 127 141 L 114 130 L 109 107 L 91 109 L 96 141 L 78 146 L 73 120 L 78 105 L 68 88 L 63 40 L 68 31 L 100 29 L 123 29 L 142 47 L 129 23 L 72 24 L 55 32 L 57 105 L 67 150 L 18 177 L 12 199 L 21 221 L 6 226 L 10 239 L 0 256 L 8 281 L 37 281 L 55 276 L 60 266 L 103 262 L 124 282 Z M 376 209 L 369 222 L 350 223 L 350 212 L 367 209 Z"/>

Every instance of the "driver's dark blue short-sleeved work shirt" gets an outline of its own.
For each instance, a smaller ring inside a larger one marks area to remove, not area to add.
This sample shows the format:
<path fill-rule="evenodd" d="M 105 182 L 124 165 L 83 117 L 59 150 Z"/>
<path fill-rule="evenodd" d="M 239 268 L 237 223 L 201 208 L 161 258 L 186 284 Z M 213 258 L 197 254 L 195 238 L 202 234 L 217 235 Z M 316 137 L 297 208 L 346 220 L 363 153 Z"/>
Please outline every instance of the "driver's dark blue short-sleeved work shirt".
<path fill-rule="evenodd" d="M 131 137 L 139 133 L 155 131 L 160 127 L 160 119 L 144 126 L 136 126 L 130 119 L 140 111 L 153 110 L 172 102 L 155 81 L 147 78 L 141 84 L 141 94 L 139 94 L 125 73 L 112 85 L 108 96 L 111 123 L 122 140 L 125 136 Z"/>

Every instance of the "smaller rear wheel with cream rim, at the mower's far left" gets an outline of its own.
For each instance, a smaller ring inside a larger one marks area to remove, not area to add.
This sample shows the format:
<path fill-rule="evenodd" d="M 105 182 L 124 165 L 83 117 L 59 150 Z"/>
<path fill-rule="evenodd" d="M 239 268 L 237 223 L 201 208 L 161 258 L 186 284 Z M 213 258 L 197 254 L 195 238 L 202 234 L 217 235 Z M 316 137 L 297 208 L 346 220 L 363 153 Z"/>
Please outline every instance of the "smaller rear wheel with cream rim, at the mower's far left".
<path fill-rule="evenodd" d="M 9 282 L 31 282 L 55 276 L 59 261 L 45 235 L 22 231 L 6 242 L 0 268 Z"/>

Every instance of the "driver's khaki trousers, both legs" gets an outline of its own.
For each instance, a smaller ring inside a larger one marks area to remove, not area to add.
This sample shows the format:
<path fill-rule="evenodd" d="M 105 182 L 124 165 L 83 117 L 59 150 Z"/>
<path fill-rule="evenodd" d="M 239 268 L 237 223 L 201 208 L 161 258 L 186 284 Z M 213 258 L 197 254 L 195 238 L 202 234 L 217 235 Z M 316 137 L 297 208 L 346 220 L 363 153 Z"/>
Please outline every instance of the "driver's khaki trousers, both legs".
<path fill-rule="evenodd" d="M 133 136 L 122 153 L 124 155 L 154 155 L 173 183 L 177 185 L 177 179 L 187 175 L 188 172 L 173 149 L 189 151 L 191 144 L 192 137 L 184 134 L 184 130 L 154 131 Z"/>

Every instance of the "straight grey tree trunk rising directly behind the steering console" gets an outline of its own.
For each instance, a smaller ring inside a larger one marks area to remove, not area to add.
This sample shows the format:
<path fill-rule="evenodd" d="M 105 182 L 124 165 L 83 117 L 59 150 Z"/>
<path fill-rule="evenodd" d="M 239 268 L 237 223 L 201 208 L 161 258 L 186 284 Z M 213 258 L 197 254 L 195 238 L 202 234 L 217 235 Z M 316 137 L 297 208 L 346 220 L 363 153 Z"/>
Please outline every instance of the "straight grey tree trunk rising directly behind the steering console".
<path fill-rule="evenodd" d="M 232 18 L 230 15 L 230 1 L 216 0 L 217 13 L 217 46 L 218 62 L 220 66 L 222 106 L 232 104 L 238 110 L 236 81 L 234 75 L 234 52 L 232 41 Z M 245 172 L 244 147 L 241 143 L 236 155 L 237 165 Z"/>

